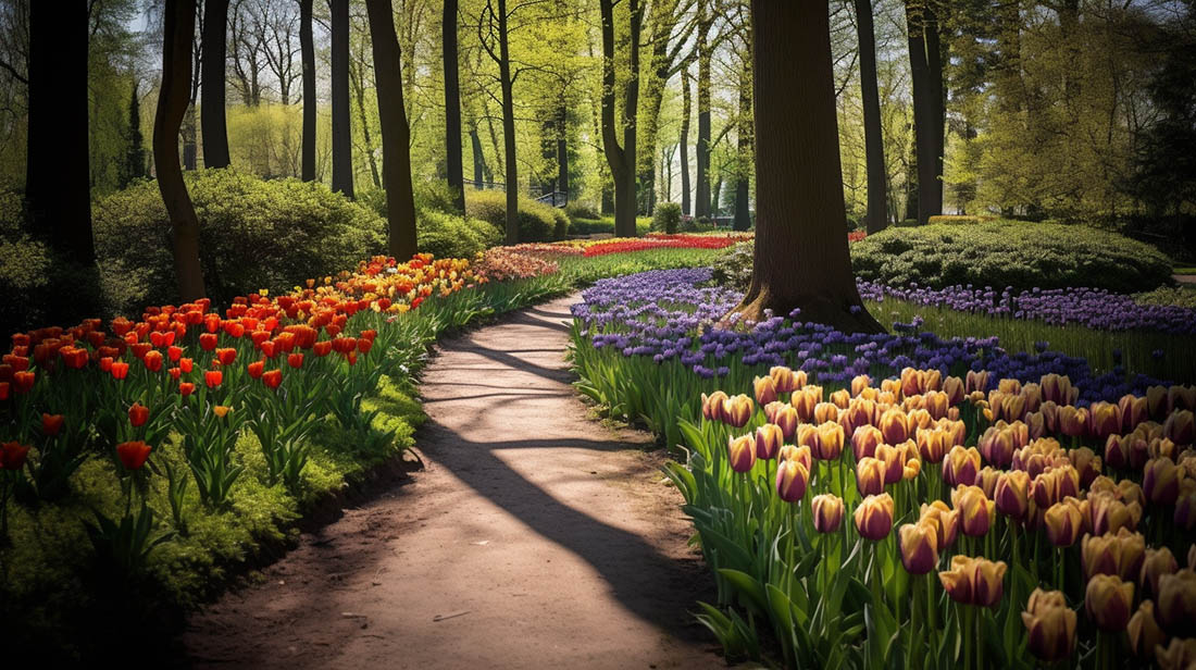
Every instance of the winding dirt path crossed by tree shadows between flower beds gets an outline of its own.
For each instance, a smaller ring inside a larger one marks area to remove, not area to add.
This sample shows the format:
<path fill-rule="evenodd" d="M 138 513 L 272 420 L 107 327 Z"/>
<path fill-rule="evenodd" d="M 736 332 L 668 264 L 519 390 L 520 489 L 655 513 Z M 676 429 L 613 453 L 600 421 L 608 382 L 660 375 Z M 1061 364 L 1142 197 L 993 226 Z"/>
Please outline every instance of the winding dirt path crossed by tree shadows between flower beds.
<path fill-rule="evenodd" d="M 426 468 L 194 616 L 191 664 L 722 666 L 688 614 L 709 577 L 661 456 L 586 420 L 569 386 L 575 299 L 446 341 L 422 384 Z"/>

